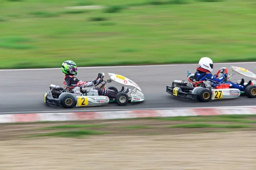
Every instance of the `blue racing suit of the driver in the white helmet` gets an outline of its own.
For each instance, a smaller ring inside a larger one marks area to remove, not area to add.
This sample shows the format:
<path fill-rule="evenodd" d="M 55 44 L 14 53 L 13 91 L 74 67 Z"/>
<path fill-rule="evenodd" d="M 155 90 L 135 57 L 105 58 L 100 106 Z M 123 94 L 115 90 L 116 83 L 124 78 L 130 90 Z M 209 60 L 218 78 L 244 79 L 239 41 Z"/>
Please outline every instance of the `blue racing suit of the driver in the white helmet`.
<path fill-rule="evenodd" d="M 197 72 L 195 73 L 194 78 L 198 81 L 208 80 L 212 82 L 212 87 L 216 87 L 219 85 L 229 85 L 229 88 L 237 88 L 240 91 L 244 91 L 243 85 L 238 85 L 230 81 L 224 82 L 224 80 L 227 78 L 227 74 L 223 74 L 221 77 L 216 78 L 211 73 L 209 73 L 209 71 L 203 68 L 197 68 Z"/>

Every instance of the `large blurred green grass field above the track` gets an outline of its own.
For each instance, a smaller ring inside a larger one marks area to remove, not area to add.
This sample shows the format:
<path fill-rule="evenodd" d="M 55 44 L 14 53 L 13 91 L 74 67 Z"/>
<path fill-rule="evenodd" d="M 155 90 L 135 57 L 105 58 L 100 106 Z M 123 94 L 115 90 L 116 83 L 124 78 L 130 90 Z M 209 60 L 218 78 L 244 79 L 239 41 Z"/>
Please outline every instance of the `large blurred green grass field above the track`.
<path fill-rule="evenodd" d="M 254 1 L 207 1 L 0 0 L 0 68 L 256 60 Z"/>

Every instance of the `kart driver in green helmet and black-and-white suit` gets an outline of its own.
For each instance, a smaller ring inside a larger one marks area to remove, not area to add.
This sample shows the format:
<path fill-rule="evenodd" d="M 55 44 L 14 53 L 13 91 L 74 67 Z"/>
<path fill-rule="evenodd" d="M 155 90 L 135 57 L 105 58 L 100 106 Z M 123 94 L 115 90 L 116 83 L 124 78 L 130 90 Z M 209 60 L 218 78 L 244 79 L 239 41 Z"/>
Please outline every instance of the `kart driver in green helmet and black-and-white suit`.
<path fill-rule="evenodd" d="M 97 86 L 99 83 L 102 82 L 102 78 L 97 77 L 93 81 L 89 82 L 83 82 L 79 79 L 77 79 L 75 76 L 78 73 L 76 63 L 70 60 L 64 61 L 61 65 L 61 71 L 65 74 L 64 81 L 66 86 L 76 86 L 76 87 L 91 87 L 91 86 Z M 108 96 L 109 98 L 115 98 L 116 92 L 110 91 L 108 89 L 102 89 L 98 88 L 97 90 L 94 90 L 98 92 L 99 96 Z M 121 91 L 124 91 L 124 87 L 122 87 Z M 129 89 L 127 88 L 127 91 L 125 93 L 127 94 Z"/>

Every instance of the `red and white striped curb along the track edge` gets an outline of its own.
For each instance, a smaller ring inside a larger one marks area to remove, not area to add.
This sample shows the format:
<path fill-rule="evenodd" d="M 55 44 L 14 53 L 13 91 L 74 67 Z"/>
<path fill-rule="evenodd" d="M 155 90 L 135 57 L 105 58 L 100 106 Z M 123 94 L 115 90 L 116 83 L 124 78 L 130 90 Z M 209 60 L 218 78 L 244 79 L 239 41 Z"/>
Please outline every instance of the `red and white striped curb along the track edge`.
<path fill-rule="evenodd" d="M 101 111 L 70 113 L 1 114 L 0 123 L 131 119 L 143 117 L 207 116 L 256 114 L 256 107 L 189 108 L 167 110 Z"/>

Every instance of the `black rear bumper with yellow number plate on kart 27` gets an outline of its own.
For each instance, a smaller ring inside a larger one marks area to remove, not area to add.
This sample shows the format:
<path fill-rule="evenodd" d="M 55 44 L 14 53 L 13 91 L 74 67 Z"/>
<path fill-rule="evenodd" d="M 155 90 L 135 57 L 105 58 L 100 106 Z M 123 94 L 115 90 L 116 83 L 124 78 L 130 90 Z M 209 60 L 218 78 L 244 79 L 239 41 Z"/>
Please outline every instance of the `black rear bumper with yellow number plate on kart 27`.
<path fill-rule="evenodd" d="M 182 98 L 185 98 L 185 99 L 190 99 L 190 100 L 197 100 L 197 94 L 194 94 L 194 93 L 186 93 L 186 92 L 183 92 L 182 91 L 182 88 L 179 87 L 172 87 L 172 86 L 166 86 L 166 92 L 169 93 L 169 94 L 172 94 L 173 96 L 176 96 L 176 97 L 182 97 Z M 173 91 L 175 89 L 175 94 L 173 94 Z"/>

